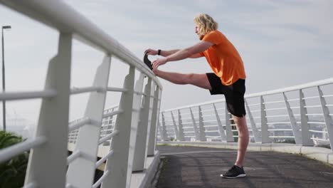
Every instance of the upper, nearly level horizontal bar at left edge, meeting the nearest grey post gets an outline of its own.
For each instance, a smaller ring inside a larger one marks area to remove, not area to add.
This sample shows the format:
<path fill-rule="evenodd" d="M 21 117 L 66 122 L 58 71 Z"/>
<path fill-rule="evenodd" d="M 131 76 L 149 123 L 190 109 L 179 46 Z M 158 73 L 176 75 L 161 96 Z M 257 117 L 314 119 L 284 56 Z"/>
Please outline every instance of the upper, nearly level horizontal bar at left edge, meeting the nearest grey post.
<path fill-rule="evenodd" d="M 53 98 L 56 97 L 56 90 L 43 90 L 32 92 L 3 92 L 0 93 L 0 100 L 24 100 L 33 98 Z"/>

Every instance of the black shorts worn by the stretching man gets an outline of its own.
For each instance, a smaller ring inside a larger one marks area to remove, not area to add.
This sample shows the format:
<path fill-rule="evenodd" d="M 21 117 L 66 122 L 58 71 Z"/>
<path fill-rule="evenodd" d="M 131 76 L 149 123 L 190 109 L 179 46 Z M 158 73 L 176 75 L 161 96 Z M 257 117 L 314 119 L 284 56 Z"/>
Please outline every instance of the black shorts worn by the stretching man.
<path fill-rule="evenodd" d="M 211 95 L 223 94 L 226 98 L 229 113 L 237 117 L 243 117 L 245 113 L 244 93 L 245 80 L 238 79 L 231 85 L 223 85 L 221 78 L 214 73 L 206 73 L 209 83 L 211 83 Z"/>

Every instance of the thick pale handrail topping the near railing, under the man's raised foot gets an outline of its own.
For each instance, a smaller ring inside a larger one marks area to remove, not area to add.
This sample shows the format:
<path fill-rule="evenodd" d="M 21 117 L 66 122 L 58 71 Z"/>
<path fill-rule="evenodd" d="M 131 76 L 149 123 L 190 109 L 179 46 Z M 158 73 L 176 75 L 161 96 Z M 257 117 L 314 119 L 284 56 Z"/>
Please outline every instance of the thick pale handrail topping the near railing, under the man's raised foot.
<path fill-rule="evenodd" d="M 139 71 L 152 78 L 162 89 L 162 84 L 142 60 L 134 56 L 125 46 L 115 38 L 98 28 L 94 23 L 82 16 L 78 11 L 63 1 L 9 1 L 1 0 L 2 4 L 11 7 L 18 13 L 26 14 L 36 21 L 45 23 L 63 33 L 73 33 L 73 37 L 93 48 L 111 53 L 122 61 L 129 63 Z M 56 8 L 55 8 L 56 7 Z"/>

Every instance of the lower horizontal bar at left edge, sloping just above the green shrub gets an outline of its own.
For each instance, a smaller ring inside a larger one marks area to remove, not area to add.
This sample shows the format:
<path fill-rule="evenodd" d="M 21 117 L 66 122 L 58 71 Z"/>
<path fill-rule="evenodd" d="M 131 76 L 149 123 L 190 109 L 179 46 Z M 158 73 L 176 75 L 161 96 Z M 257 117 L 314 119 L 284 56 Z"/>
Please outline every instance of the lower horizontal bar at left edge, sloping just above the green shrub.
<path fill-rule="evenodd" d="M 28 139 L 28 140 L 20 142 L 16 145 L 12 145 L 10 147 L 6 147 L 4 149 L 1 149 L 0 150 L 0 163 L 11 159 L 11 157 L 19 155 L 22 152 L 30 150 L 33 147 L 43 145 L 45 142 L 46 142 L 46 137 L 41 136 L 41 137 L 36 137 L 34 139 L 31 139 L 31 140 Z"/>

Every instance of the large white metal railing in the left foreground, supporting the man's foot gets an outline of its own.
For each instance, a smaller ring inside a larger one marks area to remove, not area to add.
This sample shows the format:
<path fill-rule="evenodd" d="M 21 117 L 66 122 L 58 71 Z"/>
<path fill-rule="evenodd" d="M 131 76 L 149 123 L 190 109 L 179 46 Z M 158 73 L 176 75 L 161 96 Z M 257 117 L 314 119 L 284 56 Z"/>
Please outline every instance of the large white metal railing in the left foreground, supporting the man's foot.
<path fill-rule="evenodd" d="M 0 150 L 0 163 L 31 150 L 25 187 L 129 187 L 132 171 L 143 171 L 147 155 L 155 154 L 159 80 L 127 48 L 63 1 L 0 3 L 59 31 L 58 54 L 48 63 L 45 90 L 0 93 L 1 101 L 42 98 L 36 135 Z M 74 39 L 105 53 L 90 87 L 70 89 Z M 123 88 L 108 85 L 112 56 L 129 65 Z M 116 108 L 104 110 L 107 92 L 122 93 Z M 70 95 L 79 93 L 90 93 L 85 115 L 68 123 Z M 96 161 L 99 146 L 107 141 L 107 155 Z M 68 156 L 70 144 L 75 149 Z M 104 174 L 94 184 L 95 169 L 105 161 Z"/>

